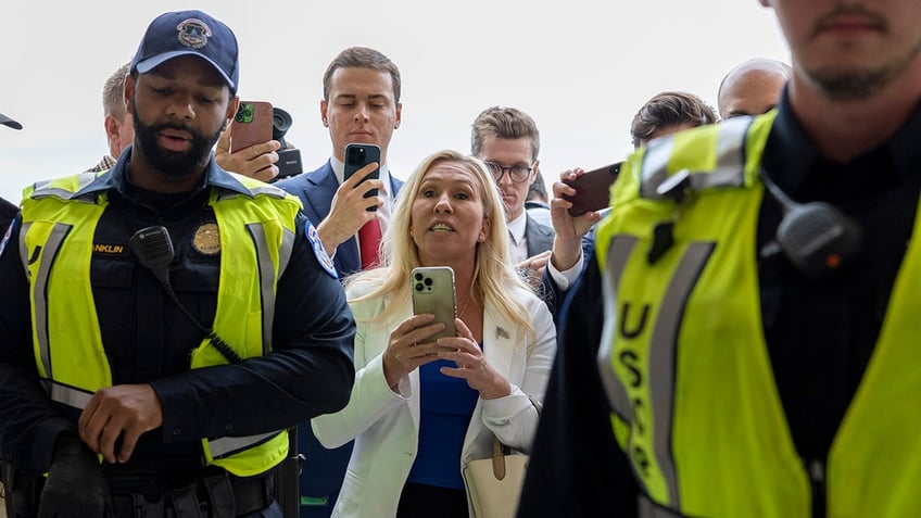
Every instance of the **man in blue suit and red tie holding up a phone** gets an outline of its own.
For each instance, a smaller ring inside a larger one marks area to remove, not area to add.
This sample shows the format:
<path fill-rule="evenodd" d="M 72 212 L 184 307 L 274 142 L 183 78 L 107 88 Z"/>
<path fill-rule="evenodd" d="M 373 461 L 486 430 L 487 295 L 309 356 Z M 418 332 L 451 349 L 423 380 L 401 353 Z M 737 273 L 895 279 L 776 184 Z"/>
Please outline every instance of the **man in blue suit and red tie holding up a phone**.
<path fill-rule="evenodd" d="M 312 173 L 275 184 L 301 199 L 304 214 L 316 225 L 340 278 L 363 269 L 363 263 L 374 262 L 375 257 L 367 255 L 378 249 L 367 244 L 375 239 L 375 232 L 366 235 L 365 230 L 379 227 L 379 239 L 390 219 L 393 198 L 403 186 L 387 165 L 387 149 L 393 130 L 400 127 L 403 111 L 400 89 L 400 70 L 382 53 L 365 47 L 340 52 L 323 76 L 319 103 L 323 125 L 329 128 L 332 140 L 332 155 Z M 349 143 L 380 147 L 379 179 L 358 186 L 376 168 L 369 165 L 343 180 Z M 378 195 L 364 198 L 371 189 L 378 189 Z M 369 211 L 370 207 L 377 210 Z M 362 251 L 366 252 L 365 257 Z M 306 457 L 300 480 L 301 516 L 328 517 L 342 485 L 352 443 L 326 450 L 314 437 L 310 422 L 298 427 L 298 443 Z"/>

